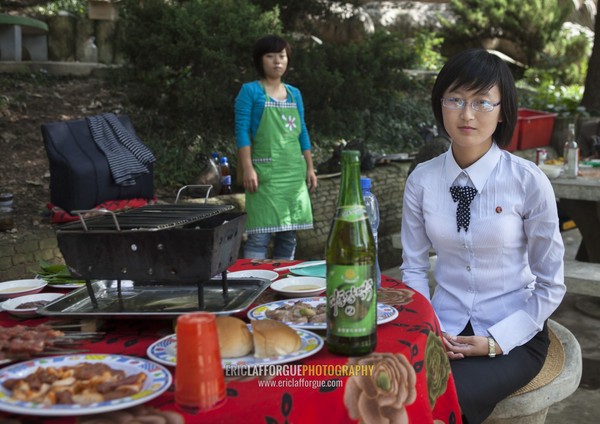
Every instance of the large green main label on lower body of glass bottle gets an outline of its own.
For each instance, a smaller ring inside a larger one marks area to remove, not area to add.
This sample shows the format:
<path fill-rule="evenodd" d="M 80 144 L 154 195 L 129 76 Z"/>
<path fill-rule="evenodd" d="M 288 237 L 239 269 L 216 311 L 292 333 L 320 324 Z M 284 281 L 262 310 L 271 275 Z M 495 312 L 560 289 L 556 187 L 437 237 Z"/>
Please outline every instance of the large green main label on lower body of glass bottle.
<path fill-rule="evenodd" d="M 372 265 L 329 265 L 329 331 L 338 337 L 364 337 L 375 331 L 377 302 Z"/>

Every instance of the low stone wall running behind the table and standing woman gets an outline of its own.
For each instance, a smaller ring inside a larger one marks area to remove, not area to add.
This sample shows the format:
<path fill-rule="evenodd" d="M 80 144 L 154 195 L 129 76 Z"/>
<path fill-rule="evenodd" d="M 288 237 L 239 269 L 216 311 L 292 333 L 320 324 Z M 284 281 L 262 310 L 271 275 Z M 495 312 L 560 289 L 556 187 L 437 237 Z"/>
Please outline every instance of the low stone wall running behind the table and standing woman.
<path fill-rule="evenodd" d="M 372 179 L 372 191 L 380 204 L 379 261 L 382 269 L 400 264 L 399 251 L 392 247 L 392 234 L 400 231 L 402 195 L 409 162 L 393 162 L 378 166 L 363 175 Z M 298 232 L 298 259 L 323 259 L 331 219 L 339 191 L 339 176 L 319 178 L 319 186 L 311 195 L 315 228 Z M 234 195 L 243 198 L 243 195 Z M 217 198 L 218 199 L 218 198 Z M 225 198 L 228 203 L 231 198 Z M 230 202 L 235 203 L 235 202 Z M 243 206 L 240 206 L 243 207 Z M 39 261 L 63 262 L 52 228 L 34 234 L 10 234 L 0 238 L 0 281 L 32 278 Z"/>

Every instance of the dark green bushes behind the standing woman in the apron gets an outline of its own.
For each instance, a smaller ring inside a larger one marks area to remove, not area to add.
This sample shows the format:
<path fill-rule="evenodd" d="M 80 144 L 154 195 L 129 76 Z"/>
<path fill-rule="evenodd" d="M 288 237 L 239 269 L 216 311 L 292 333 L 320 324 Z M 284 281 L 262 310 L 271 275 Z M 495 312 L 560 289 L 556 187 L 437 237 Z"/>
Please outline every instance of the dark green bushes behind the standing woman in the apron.
<path fill-rule="evenodd" d="M 137 82 L 131 100 L 141 110 L 134 119 L 160 158 L 157 185 L 193 181 L 201 153 L 220 151 L 235 169 L 234 99 L 256 78 L 254 42 L 283 33 L 278 13 L 249 0 L 126 0 L 123 49 Z M 302 91 L 316 157 L 340 138 L 392 152 L 421 142 L 419 125 L 432 121 L 431 112 L 428 101 L 415 101 L 422 86 L 402 71 L 424 63 L 414 46 L 384 32 L 346 45 L 284 37 L 294 50 L 286 82 Z M 435 42 L 422 38 L 420 51 Z"/>

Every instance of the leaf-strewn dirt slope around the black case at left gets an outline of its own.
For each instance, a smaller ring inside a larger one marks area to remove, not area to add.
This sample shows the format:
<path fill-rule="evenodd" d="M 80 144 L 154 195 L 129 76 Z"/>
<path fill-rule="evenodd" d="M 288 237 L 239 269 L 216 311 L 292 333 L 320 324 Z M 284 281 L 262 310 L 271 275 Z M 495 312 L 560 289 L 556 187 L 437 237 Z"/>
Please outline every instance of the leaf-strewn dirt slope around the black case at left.
<path fill-rule="evenodd" d="M 0 193 L 12 193 L 14 228 L 0 238 L 50 227 L 50 170 L 41 125 L 123 113 L 125 95 L 93 77 L 0 74 Z"/>

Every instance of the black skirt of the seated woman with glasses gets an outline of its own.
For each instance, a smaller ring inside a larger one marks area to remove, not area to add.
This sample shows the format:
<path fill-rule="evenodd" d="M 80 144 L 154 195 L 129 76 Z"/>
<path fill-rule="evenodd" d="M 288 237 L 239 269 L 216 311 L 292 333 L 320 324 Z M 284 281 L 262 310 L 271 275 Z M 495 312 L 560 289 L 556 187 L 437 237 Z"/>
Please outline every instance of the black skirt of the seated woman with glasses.
<path fill-rule="evenodd" d="M 473 335 L 470 322 L 460 335 Z M 542 369 L 549 344 L 548 327 L 544 323 L 542 331 L 508 355 L 450 361 L 465 423 L 483 422 L 498 402 L 529 383 Z"/>

